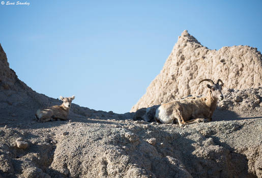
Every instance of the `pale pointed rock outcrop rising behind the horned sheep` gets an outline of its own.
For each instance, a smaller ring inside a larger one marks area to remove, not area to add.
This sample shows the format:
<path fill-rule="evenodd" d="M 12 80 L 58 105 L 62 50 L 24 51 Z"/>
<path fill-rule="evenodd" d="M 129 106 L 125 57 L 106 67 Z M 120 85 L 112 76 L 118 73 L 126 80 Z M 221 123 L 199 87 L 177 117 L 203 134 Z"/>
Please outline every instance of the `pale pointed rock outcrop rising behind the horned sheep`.
<path fill-rule="evenodd" d="M 261 86 L 262 55 L 250 46 L 210 50 L 184 31 L 160 74 L 151 82 L 131 112 L 188 95 L 205 94 L 206 85 L 198 85 L 204 78 L 214 81 L 222 79 L 225 89 L 243 90 Z"/>

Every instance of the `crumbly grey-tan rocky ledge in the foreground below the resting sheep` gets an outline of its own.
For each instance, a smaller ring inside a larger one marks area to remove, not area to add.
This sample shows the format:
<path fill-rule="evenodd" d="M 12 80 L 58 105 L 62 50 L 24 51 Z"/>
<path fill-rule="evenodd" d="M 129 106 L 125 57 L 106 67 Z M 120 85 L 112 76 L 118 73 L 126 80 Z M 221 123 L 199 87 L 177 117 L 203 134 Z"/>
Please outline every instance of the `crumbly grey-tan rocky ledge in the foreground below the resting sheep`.
<path fill-rule="evenodd" d="M 262 118 L 186 128 L 131 120 L 56 123 L 0 127 L 0 175 L 261 177 Z M 18 149 L 17 137 L 30 146 Z"/>

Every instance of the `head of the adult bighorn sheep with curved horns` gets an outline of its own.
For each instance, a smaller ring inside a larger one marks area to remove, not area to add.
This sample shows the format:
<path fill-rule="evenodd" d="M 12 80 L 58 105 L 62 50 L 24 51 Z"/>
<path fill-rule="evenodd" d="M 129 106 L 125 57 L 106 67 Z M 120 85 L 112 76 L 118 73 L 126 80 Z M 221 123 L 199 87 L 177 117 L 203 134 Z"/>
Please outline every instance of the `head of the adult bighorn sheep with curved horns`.
<path fill-rule="evenodd" d="M 212 85 L 207 84 L 207 87 L 211 91 L 212 97 L 217 98 L 219 100 L 223 100 L 224 99 L 224 96 L 223 96 L 223 94 L 221 92 L 222 86 L 224 85 L 224 83 L 222 82 L 221 79 L 218 79 L 217 83 L 214 83 L 214 81 L 211 80 L 211 79 L 203 79 L 198 84 L 200 84 L 202 81 L 209 81 L 210 83 L 212 83 Z M 220 82 L 220 84 L 219 84 L 219 82 Z"/>

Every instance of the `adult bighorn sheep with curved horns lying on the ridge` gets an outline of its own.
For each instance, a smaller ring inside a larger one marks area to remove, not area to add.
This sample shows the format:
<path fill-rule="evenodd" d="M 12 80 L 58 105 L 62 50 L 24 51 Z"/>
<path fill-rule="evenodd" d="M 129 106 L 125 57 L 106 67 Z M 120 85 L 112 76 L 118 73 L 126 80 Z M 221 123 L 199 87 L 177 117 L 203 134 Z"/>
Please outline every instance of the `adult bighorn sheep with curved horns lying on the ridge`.
<path fill-rule="evenodd" d="M 217 107 L 218 99 L 223 100 L 224 98 L 221 92 L 224 83 L 220 79 L 218 79 L 217 83 L 214 83 L 211 79 L 203 79 L 198 84 L 202 81 L 209 81 L 213 84 L 207 84 L 210 90 L 206 97 L 189 97 L 162 104 L 156 110 L 156 121 L 173 123 L 177 120 L 180 127 L 187 124 L 211 121 L 213 112 Z"/>

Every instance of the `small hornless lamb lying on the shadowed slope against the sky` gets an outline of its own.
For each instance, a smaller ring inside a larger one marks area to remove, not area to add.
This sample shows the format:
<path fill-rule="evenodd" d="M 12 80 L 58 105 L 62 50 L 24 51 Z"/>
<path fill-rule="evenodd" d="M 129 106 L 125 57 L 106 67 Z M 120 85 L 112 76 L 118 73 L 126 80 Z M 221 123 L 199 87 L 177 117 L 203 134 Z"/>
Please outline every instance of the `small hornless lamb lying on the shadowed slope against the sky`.
<path fill-rule="evenodd" d="M 38 109 L 36 112 L 36 118 L 38 122 L 53 121 L 56 119 L 67 120 L 72 100 L 75 96 L 69 98 L 60 97 L 63 103 L 60 106 L 51 106 L 44 109 Z"/>

